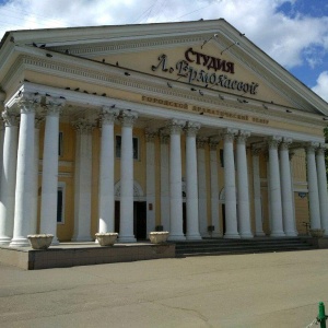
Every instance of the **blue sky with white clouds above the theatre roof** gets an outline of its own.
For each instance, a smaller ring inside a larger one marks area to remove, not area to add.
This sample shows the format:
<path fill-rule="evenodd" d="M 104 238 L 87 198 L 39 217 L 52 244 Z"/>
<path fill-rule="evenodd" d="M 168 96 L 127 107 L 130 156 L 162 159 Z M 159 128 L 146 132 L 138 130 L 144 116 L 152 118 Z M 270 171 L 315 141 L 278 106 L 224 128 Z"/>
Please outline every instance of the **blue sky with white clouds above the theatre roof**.
<path fill-rule="evenodd" d="M 327 0 L 0 0 L 1 35 L 220 17 L 328 101 Z"/>

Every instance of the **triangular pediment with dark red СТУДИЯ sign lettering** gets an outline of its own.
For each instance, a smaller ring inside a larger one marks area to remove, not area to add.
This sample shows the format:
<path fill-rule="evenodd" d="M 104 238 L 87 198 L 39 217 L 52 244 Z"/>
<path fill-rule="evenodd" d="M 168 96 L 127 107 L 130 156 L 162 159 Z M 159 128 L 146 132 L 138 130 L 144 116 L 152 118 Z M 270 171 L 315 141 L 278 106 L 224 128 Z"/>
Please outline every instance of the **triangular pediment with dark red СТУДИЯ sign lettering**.
<path fill-rule="evenodd" d="M 328 115 L 327 103 L 224 20 L 13 32 L 7 38 L 79 59 L 266 104 Z"/>

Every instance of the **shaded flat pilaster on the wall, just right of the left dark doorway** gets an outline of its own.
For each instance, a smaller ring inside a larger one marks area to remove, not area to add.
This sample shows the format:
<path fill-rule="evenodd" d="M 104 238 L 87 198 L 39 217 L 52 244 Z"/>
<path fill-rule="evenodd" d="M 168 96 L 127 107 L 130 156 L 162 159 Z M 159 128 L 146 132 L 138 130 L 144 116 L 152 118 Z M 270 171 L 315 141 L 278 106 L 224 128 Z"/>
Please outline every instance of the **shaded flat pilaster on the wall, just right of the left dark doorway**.
<path fill-rule="evenodd" d="M 155 231 L 156 222 L 155 137 L 153 131 L 145 132 L 147 237 L 150 232 Z"/>

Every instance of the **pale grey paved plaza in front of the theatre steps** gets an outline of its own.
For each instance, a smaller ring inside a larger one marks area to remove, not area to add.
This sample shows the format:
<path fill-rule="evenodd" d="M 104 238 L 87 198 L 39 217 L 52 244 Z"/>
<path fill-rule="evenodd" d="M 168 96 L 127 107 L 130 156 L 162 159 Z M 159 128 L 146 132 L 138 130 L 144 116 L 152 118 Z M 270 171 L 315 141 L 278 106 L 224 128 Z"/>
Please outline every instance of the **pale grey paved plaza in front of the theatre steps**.
<path fill-rule="evenodd" d="M 320 301 L 328 308 L 328 249 L 36 271 L 0 265 L 7 328 L 306 327 Z"/>

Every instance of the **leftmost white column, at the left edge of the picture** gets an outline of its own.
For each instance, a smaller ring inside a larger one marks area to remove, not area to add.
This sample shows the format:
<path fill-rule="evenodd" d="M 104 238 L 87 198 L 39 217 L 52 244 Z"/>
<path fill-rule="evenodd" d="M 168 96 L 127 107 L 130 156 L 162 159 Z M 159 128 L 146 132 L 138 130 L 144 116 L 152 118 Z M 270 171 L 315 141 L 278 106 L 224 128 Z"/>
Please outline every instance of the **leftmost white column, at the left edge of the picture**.
<path fill-rule="evenodd" d="M 5 125 L 0 189 L 0 245 L 10 243 L 15 209 L 19 117 L 8 110 L 2 113 Z"/>

